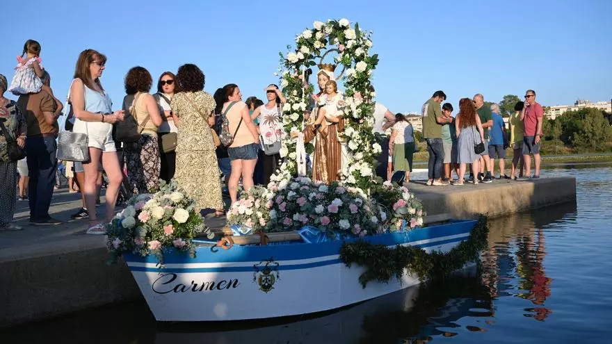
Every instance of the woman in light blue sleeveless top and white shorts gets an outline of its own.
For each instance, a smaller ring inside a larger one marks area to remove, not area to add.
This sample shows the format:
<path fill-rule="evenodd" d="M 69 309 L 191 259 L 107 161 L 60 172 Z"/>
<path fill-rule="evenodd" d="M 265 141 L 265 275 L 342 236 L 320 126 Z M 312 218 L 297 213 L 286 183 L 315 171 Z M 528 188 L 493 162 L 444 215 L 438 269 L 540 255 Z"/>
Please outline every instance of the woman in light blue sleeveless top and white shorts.
<path fill-rule="evenodd" d="M 104 224 L 97 220 L 95 211 L 96 180 L 100 161 L 108 177 L 106 222 L 110 222 L 115 215 L 115 204 L 123 179 L 112 135 L 113 124 L 123 120 L 123 111 L 113 113 L 111 98 L 100 83 L 99 78 L 102 76 L 105 63 L 106 56 L 99 52 L 92 49 L 82 51 L 74 71 L 75 79 L 70 87 L 70 101 L 76 117 L 72 131 L 86 133 L 88 136 L 90 160 L 83 162 L 85 182 L 81 187 L 81 193 L 85 193 L 85 203 L 89 213 L 88 234 L 106 233 Z"/>

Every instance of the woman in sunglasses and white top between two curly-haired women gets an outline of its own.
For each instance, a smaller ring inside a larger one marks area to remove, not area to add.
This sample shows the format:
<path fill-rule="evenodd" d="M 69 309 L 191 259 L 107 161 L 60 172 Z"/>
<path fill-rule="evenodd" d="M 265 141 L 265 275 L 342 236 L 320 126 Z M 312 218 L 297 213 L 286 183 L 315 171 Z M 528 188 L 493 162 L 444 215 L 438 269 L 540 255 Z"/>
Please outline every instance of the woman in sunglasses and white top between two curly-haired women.
<path fill-rule="evenodd" d="M 176 76 L 172 72 L 161 73 L 157 81 L 157 93 L 153 96 L 157 104 L 159 104 L 161 119 L 163 120 L 161 126 L 157 129 L 159 156 L 161 157 L 159 178 L 166 182 L 170 182 L 170 179 L 175 177 L 177 165 L 175 149 L 170 149 L 171 147 L 164 149 L 163 147 L 164 141 L 168 142 L 166 145 L 172 145 L 172 142 L 177 142 L 175 115 L 172 113 L 172 108 L 170 108 L 172 97 L 175 96 L 175 92 L 178 92 L 175 80 Z"/>

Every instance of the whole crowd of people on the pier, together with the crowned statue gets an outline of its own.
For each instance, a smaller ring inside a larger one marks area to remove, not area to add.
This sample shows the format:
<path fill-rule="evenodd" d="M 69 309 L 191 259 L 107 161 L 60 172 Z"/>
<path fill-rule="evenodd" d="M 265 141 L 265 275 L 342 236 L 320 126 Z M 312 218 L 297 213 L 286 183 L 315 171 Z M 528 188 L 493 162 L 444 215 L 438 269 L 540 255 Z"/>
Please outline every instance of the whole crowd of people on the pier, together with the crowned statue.
<path fill-rule="evenodd" d="M 242 101 L 241 90 L 234 83 L 211 95 L 204 91 L 202 70 L 186 64 L 176 73 L 163 72 L 152 95 L 154 81 L 150 72 L 133 67 L 124 79 L 126 96 L 122 108 L 113 110 L 100 79 L 106 56 L 86 49 L 77 59 L 67 97 L 69 108 L 64 108 L 54 97 L 49 73 L 41 62 L 40 44 L 28 40 L 10 85 L 0 75 L 0 122 L 8 133 L 3 131 L 0 136 L 0 179 L 6 186 L 0 192 L 1 230 L 21 229 L 12 223 L 17 188 L 19 199 L 28 198 L 33 225 L 62 223 L 49 215 L 58 170 L 56 139 L 61 131 L 81 133 L 87 138 L 88 159 L 65 161 L 62 166 L 70 189 L 74 183 L 74 191 L 81 193 L 82 206 L 72 218 L 88 219 L 88 234 L 105 233 L 104 223 L 113 218 L 120 187 L 126 181 L 129 193 L 138 194 L 154 192 L 161 180 L 174 179 L 195 199 L 200 210 L 223 216 L 224 189 L 231 202 L 236 202 L 240 184 L 245 190 L 255 184 L 267 185 L 282 163 L 279 149 L 286 99 L 277 85 L 265 88 L 265 103 L 257 97 Z M 344 101 L 332 70 L 323 68 L 317 77 L 320 92 L 312 96 L 310 107 L 314 115 L 307 112 L 309 125 L 300 133 L 300 140 L 316 138 L 315 151 L 308 157 L 312 158 L 313 178 L 334 181 L 348 168 L 346 142 L 341 135 L 344 120 L 339 110 Z M 19 99 L 7 99 L 3 96 L 7 91 Z M 453 170 L 458 174 L 455 184 L 462 185 L 467 165 L 472 165 L 474 183 L 490 182 L 495 156 L 499 158 L 500 176 L 506 177 L 506 145 L 515 152 L 508 178 L 522 171 L 517 168 L 521 161 L 529 175 L 530 153 L 536 161 L 533 178 L 538 178 L 542 107 L 535 102 L 535 96 L 529 90 L 526 101 L 517 104 L 517 112 L 510 118 L 508 139 L 499 107 L 484 106 L 482 95 L 461 99 L 459 113 L 453 117 L 451 104 L 440 105 L 446 100 L 444 92 L 435 92 L 422 113 L 423 137 L 429 152 L 428 185 L 448 184 Z M 60 129 L 58 117 L 62 114 L 67 119 Z M 404 115 L 393 115 L 380 103 L 375 104 L 373 117 L 373 130 L 383 147 L 377 174 L 391 179 L 395 171 L 403 174 L 402 182 L 410 181 L 412 156 L 417 149 L 412 125 Z M 390 138 L 387 129 L 391 130 Z M 11 146 L 24 150 L 26 158 L 15 161 L 8 154 Z M 96 204 L 103 172 L 106 218 L 99 220 Z"/>

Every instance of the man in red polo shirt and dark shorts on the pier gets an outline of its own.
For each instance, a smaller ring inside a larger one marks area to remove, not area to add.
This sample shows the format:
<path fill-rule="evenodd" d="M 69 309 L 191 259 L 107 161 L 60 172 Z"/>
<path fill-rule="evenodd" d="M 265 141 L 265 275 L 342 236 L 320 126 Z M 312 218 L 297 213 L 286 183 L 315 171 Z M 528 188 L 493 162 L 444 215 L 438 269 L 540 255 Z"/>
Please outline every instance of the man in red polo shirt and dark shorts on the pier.
<path fill-rule="evenodd" d="M 536 103 L 536 91 L 527 90 L 521 120 L 524 127 L 523 158 L 527 176 L 531 176 L 531 156 L 529 154 L 533 154 L 533 161 L 536 165 L 536 173 L 530 179 L 540 178 L 540 140 L 542 138 L 543 115 L 542 106 Z"/>

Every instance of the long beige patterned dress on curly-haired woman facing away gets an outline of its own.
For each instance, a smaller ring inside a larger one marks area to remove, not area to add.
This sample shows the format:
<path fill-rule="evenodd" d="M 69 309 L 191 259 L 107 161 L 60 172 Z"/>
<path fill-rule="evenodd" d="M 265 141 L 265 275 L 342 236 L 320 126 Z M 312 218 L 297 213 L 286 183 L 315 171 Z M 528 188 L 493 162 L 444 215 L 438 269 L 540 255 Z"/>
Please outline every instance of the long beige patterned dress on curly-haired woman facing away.
<path fill-rule="evenodd" d="M 207 122 L 215 105 L 204 91 L 179 92 L 170 104 L 179 118 L 175 179 L 202 209 L 223 209 L 216 147 Z"/>

